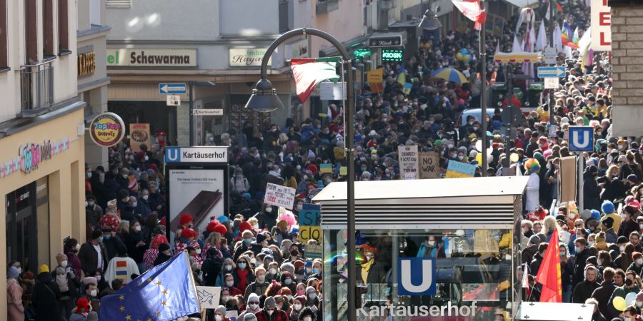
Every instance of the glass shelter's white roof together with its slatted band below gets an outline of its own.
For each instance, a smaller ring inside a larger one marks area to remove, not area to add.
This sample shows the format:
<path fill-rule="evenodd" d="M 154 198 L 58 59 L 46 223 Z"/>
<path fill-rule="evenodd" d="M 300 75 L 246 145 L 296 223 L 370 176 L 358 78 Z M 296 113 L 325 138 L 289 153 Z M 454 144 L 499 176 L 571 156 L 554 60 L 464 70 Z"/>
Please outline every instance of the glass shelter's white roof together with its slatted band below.
<path fill-rule="evenodd" d="M 529 177 L 381 180 L 355 183 L 356 228 L 512 228 L 522 218 Z M 335 182 L 313 198 L 322 228 L 347 226 L 347 183 Z"/>

